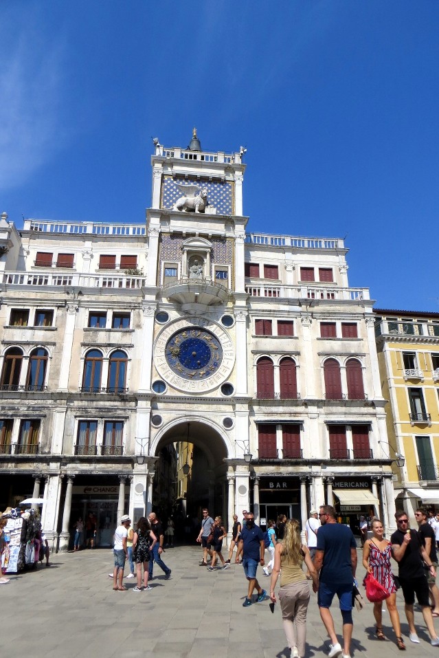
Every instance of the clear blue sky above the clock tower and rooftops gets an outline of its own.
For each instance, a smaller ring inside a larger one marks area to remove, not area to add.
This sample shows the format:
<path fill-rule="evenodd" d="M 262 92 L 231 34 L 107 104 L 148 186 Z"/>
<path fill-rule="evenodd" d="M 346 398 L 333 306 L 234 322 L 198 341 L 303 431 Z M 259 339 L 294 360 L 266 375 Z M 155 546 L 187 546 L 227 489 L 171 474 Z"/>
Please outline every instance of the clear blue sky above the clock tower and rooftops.
<path fill-rule="evenodd" d="M 345 237 L 439 312 L 437 0 L 0 3 L 0 212 L 142 221 L 151 136 L 247 146 L 248 230 Z"/>

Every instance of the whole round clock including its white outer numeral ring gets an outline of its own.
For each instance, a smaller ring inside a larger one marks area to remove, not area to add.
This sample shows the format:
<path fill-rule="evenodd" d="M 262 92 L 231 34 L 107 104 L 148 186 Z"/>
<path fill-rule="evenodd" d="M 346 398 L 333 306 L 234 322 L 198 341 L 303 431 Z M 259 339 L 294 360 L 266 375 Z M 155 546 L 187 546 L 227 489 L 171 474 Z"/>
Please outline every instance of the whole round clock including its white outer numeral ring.
<path fill-rule="evenodd" d="M 157 371 L 175 388 L 202 393 L 222 384 L 232 371 L 234 347 L 227 333 L 209 320 L 171 322 L 155 343 Z"/>

